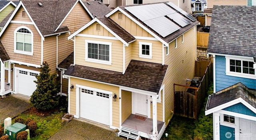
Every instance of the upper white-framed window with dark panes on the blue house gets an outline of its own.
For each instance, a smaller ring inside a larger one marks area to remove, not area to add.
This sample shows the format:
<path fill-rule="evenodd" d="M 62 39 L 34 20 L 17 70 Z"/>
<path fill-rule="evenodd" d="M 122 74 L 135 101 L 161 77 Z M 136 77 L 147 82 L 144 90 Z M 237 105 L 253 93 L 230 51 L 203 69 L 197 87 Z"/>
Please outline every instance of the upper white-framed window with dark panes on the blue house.
<path fill-rule="evenodd" d="M 254 63 L 251 59 L 226 57 L 226 74 L 230 76 L 256 79 Z"/>

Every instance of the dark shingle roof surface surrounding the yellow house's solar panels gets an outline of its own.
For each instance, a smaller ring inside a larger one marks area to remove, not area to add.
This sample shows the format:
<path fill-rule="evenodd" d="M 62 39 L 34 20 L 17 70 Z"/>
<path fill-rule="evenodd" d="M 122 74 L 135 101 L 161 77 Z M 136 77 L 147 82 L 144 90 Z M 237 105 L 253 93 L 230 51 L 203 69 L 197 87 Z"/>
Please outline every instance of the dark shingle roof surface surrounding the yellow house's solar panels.
<path fill-rule="evenodd" d="M 150 3 L 150 4 L 158 4 L 158 3 L 164 3 L 166 4 L 167 2 L 156 2 L 156 3 Z M 147 5 L 147 4 L 139 4 L 139 5 Z M 168 4 L 166 4 L 168 5 Z M 129 6 L 134 6 L 134 5 L 129 5 Z M 190 24 L 188 24 L 187 26 L 184 26 L 183 28 L 181 27 L 180 30 L 166 36 L 166 37 L 162 37 L 161 35 L 159 35 L 157 32 L 155 32 L 154 30 L 152 30 L 149 26 L 147 26 L 146 24 L 144 24 L 141 20 L 139 20 L 138 18 L 136 18 L 136 16 L 132 15 L 130 12 L 128 12 L 125 7 L 129 7 L 129 6 L 119 6 L 122 10 L 124 10 L 127 14 L 129 14 L 130 16 L 132 16 L 135 20 L 137 20 L 138 22 L 140 22 L 142 25 L 144 25 L 146 28 L 148 28 L 150 31 L 152 31 L 154 34 L 158 35 L 158 37 L 160 37 L 161 39 L 163 39 L 164 41 L 166 41 L 167 43 L 170 43 L 171 41 L 173 41 L 175 38 L 177 38 L 178 36 L 182 35 L 184 32 L 186 32 L 187 30 L 189 30 L 190 28 L 194 27 L 195 25 L 199 24 L 199 22 L 197 20 L 195 20 L 194 22 L 191 21 Z M 169 6 L 170 8 L 172 8 L 171 6 Z M 175 10 L 175 9 L 174 9 Z M 143 13 L 141 13 L 143 14 Z"/>

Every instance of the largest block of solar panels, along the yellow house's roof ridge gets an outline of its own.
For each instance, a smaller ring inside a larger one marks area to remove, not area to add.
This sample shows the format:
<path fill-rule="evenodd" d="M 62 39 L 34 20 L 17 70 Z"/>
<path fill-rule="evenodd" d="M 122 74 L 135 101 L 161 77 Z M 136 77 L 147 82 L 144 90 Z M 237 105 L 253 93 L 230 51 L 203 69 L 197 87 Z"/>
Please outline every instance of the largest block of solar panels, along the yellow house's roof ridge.
<path fill-rule="evenodd" d="M 151 20 L 153 18 L 159 18 L 168 14 L 175 13 L 176 11 L 169 8 L 166 4 L 148 4 L 141 6 L 125 7 L 130 13 L 136 16 L 142 22 Z"/>

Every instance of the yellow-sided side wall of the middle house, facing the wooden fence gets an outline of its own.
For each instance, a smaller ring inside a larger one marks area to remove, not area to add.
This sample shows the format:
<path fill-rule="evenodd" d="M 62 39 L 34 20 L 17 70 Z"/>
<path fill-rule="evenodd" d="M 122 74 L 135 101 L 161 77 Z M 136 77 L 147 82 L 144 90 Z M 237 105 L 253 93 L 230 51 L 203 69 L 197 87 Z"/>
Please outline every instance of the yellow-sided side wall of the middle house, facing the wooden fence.
<path fill-rule="evenodd" d="M 196 30 L 193 28 L 178 37 L 177 48 L 175 40 L 169 44 L 169 55 L 165 56 L 165 64 L 168 65 L 165 84 L 165 122 L 168 124 L 171 118 L 171 111 L 174 111 L 174 83 L 188 85 L 186 79 L 192 79 L 195 74 L 196 61 Z M 166 48 L 165 52 L 166 54 Z M 184 88 L 175 87 L 176 91 L 184 91 Z M 167 125 L 166 124 L 166 125 Z"/>

